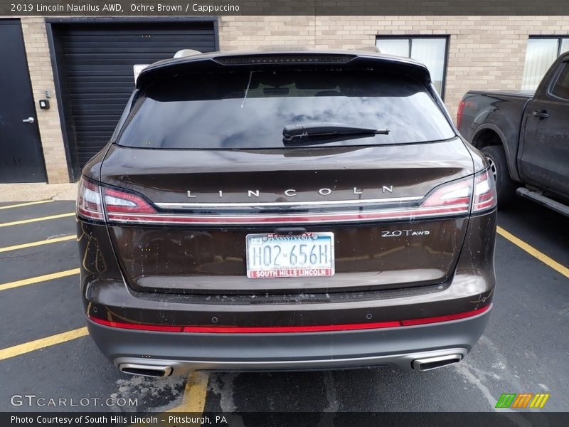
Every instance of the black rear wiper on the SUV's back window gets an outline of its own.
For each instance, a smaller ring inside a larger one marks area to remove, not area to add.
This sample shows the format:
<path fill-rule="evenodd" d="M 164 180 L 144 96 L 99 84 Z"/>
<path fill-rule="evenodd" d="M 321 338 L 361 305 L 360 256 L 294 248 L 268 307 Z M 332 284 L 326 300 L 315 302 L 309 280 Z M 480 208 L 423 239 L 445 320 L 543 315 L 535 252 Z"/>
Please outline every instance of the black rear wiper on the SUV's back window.
<path fill-rule="evenodd" d="M 293 139 L 299 138 L 338 137 L 341 135 L 389 135 L 389 130 L 326 122 L 287 125 L 282 129 L 282 139 L 284 142 L 291 142 Z"/>

